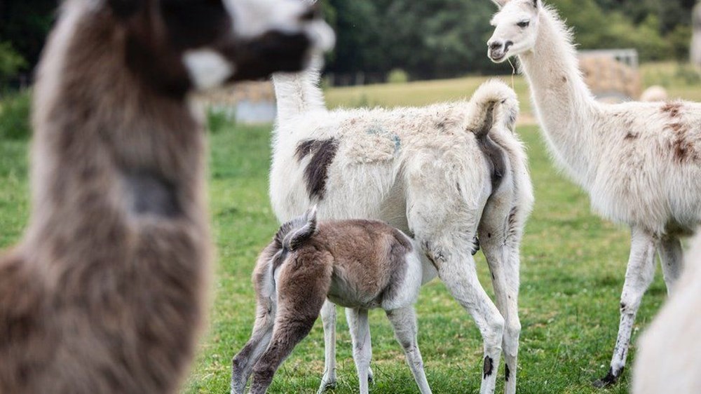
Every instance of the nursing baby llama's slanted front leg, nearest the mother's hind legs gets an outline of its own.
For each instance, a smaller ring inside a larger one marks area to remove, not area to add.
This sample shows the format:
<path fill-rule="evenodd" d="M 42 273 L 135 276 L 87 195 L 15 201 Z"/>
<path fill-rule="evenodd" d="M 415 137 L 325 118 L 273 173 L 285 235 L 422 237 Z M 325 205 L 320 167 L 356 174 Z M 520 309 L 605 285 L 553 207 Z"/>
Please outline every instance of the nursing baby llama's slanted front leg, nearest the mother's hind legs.
<path fill-rule="evenodd" d="M 411 374 L 414 375 L 414 380 L 418 385 L 418 390 L 421 394 L 430 394 L 431 389 L 426 381 L 426 372 L 423 370 L 423 360 L 421 359 L 421 351 L 418 350 L 416 341 L 416 313 L 413 306 L 406 308 L 387 311 L 387 318 L 392 322 L 397 341 L 404 349 L 404 354 L 407 355 L 407 363 L 411 368 Z"/>

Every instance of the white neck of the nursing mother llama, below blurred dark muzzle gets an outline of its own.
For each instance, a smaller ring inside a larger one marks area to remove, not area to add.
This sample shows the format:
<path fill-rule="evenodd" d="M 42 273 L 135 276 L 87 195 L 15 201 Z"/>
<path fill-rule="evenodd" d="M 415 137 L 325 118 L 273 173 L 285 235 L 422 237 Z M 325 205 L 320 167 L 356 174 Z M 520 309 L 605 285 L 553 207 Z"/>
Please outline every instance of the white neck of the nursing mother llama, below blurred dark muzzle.
<path fill-rule="evenodd" d="M 297 74 L 273 75 L 278 121 L 284 122 L 308 111 L 326 109 L 324 94 L 319 87 L 321 60 L 315 60 L 314 63 L 309 69 Z"/>

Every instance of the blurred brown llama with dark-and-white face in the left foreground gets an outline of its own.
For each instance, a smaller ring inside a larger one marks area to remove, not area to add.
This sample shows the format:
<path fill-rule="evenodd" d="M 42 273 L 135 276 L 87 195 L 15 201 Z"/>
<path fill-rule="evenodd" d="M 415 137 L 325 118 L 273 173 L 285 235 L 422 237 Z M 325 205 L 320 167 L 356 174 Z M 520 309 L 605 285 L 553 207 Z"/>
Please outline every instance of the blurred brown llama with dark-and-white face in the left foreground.
<path fill-rule="evenodd" d="M 285 1 L 63 2 L 34 90 L 32 217 L 0 258 L 0 393 L 176 392 L 211 255 L 188 93 L 300 69 L 329 32 Z"/>

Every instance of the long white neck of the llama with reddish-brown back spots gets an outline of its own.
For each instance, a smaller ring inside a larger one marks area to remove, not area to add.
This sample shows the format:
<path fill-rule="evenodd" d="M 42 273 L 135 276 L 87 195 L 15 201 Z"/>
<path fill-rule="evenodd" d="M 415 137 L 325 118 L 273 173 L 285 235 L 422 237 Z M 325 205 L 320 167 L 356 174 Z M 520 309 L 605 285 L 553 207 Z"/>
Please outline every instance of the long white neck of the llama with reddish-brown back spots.
<path fill-rule="evenodd" d="M 578 69 L 570 36 L 557 13 L 543 7 L 536 46 L 519 59 L 554 156 L 571 177 L 585 186 L 596 170 L 591 156 L 597 142 L 591 125 L 597 102 Z"/>

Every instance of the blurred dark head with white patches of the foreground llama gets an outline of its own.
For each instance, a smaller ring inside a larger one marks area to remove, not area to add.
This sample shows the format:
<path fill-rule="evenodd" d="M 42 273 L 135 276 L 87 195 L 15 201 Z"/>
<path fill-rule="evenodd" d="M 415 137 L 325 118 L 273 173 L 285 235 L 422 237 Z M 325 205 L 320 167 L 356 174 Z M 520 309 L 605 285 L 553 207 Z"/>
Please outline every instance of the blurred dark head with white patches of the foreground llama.
<path fill-rule="evenodd" d="M 301 0 L 74 0 L 109 15 L 128 66 L 148 83 L 227 81 L 296 72 L 333 46 L 332 29 Z"/>

